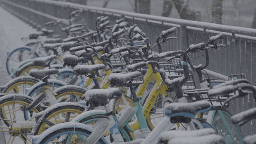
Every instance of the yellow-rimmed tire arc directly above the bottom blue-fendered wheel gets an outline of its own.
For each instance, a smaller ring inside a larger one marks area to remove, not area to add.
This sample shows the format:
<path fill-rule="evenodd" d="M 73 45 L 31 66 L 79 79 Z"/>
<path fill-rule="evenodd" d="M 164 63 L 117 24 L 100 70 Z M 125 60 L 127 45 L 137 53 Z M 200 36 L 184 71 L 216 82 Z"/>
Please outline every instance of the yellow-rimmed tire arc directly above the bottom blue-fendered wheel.
<path fill-rule="evenodd" d="M 62 105 L 60 107 L 57 107 L 57 108 L 47 111 L 47 113 L 44 113 L 43 116 L 41 116 L 40 119 L 37 121 L 37 128 L 35 130 L 34 135 L 40 135 L 43 131 L 45 131 L 47 124 L 41 120 L 42 117 L 45 120 L 50 121 L 50 119 L 56 117 L 57 114 L 60 114 L 60 113 L 67 114 L 67 113 L 71 113 L 71 112 L 81 114 L 84 111 L 84 109 L 85 108 L 83 106 L 66 104 L 66 105 Z M 72 119 L 69 118 L 69 120 L 72 120 Z M 56 122 L 56 123 L 54 123 L 55 125 L 58 124 L 58 121 L 56 119 L 55 119 L 55 122 Z M 60 120 L 59 123 L 62 123 L 62 121 Z M 49 126 L 49 125 L 47 125 L 47 126 Z"/>

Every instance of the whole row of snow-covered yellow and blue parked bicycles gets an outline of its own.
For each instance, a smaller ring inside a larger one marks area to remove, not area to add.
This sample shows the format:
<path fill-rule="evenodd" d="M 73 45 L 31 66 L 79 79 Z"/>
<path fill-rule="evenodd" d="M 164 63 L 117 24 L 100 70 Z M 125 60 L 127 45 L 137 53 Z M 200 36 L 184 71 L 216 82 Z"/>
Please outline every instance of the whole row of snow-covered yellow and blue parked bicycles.
<path fill-rule="evenodd" d="M 93 31 L 79 23 L 80 12 L 37 27 L 22 38 L 26 46 L 8 54 L 13 79 L 0 87 L 0 131 L 9 133 L 8 144 L 256 144 L 256 135 L 240 131 L 256 109 L 234 116 L 227 110 L 232 99 L 255 100 L 255 87 L 243 74 L 230 81 L 203 74 L 209 49 L 225 48 L 217 43 L 224 35 L 162 53 L 162 44 L 177 40 L 177 27 L 152 44 L 124 18 L 98 17 Z M 205 64 L 195 65 L 191 55 L 201 51 Z"/>

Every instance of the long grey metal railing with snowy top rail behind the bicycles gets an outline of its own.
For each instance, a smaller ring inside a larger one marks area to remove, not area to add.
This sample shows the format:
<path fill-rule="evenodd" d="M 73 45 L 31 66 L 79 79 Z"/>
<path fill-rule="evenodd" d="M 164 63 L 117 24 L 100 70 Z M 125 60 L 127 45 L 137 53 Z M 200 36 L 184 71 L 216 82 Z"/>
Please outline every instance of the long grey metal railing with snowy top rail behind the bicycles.
<path fill-rule="evenodd" d="M 224 34 L 226 38 L 219 40 L 218 43 L 226 45 L 226 48 L 209 51 L 208 69 L 224 75 L 244 73 L 249 81 L 256 83 L 256 29 L 165 18 L 53 0 L 3 0 L 2 3 L 6 9 L 18 12 L 41 25 L 49 20 L 67 19 L 68 14 L 75 9 L 83 9 L 80 17 L 85 19 L 91 29 L 94 29 L 98 16 L 109 16 L 110 21 L 125 18 L 130 25 L 137 24 L 152 43 L 155 43 L 156 37 L 162 30 L 178 27 L 177 33 L 174 34 L 174 36 L 178 36 L 178 41 L 166 43 L 163 45 L 163 51 L 185 50 L 191 44 L 207 42 L 212 35 Z M 55 30 L 57 29 L 55 28 Z M 59 30 L 58 32 L 64 35 Z M 194 54 L 192 58 L 195 64 L 200 64 L 204 62 L 204 52 Z M 235 114 L 255 106 L 254 100 L 246 97 L 235 100 L 230 104 L 229 110 Z M 256 134 L 255 127 L 255 120 L 243 126 L 243 135 Z"/>

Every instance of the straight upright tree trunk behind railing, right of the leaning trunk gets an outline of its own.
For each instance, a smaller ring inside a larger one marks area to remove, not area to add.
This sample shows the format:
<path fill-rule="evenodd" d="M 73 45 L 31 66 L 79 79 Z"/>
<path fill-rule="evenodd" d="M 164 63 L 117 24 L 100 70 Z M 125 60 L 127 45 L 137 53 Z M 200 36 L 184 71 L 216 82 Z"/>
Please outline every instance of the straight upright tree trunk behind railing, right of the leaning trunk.
<path fill-rule="evenodd" d="M 223 0 L 212 1 L 212 22 L 216 24 L 222 24 L 222 9 Z"/>

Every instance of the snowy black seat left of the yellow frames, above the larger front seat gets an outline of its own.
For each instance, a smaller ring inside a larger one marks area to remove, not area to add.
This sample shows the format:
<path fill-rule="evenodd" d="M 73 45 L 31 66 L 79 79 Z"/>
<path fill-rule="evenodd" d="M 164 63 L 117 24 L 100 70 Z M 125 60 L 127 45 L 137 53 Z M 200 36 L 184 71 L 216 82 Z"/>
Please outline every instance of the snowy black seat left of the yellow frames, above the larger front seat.
<path fill-rule="evenodd" d="M 105 69 L 106 66 L 104 64 L 91 64 L 91 65 L 77 65 L 75 66 L 74 72 L 77 72 L 80 75 L 86 75 L 93 72 L 97 72 L 98 70 Z"/>

